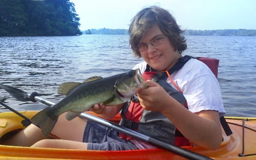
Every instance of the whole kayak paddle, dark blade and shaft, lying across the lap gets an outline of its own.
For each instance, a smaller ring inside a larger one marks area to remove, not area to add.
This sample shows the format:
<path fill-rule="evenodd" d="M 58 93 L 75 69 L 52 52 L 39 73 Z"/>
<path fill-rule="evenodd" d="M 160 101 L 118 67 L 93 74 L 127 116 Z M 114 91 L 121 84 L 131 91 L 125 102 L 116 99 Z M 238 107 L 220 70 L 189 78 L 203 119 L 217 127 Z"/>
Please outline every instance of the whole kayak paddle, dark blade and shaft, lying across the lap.
<path fill-rule="evenodd" d="M 32 94 L 26 93 L 26 92 L 24 92 L 24 91 L 22 91 L 20 89 L 17 89 L 17 88 L 8 86 L 8 85 L 3 85 L 1 83 L 0 83 L 0 86 L 2 86 L 2 88 L 5 91 L 7 91 L 11 96 L 13 96 L 15 99 L 17 99 L 19 101 L 32 101 L 32 102 L 38 101 L 38 102 L 41 102 L 41 103 L 43 103 L 43 104 L 45 104 L 47 106 L 55 105 L 55 103 L 53 103 L 51 101 L 48 101 L 48 100 L 45 100 L 45 99 L 42 99 L 41 97 L 39 97 L 39 94 L 36 93 L 36 92 L 33 92 Z M 2 103 L 0 103 L 0 104 L 2 104 Z M 4 105 L 4 107 L 5 106 L 7 106 L 7 105 Z M 7 108 L 11 108 L 11 107 L 7 107 Z M 10 110 L 13 111 L 14 109 L 10 109 Z M 90 120 L 90 121 L 93 121 L 93 122 L 95 122 L 97 124 L 100 124 L 102 126 L 105 126 L 105 127 L 108 127 L 108 128 L 114 129 L 114 130 L 117 130 L 117 131 L 119 131 L 121 133 L 125 133 L 125 134 L 127 134 L 129 136 L 137 138 L 138 140 L 141 140 L 141 141 L 153 144 L 155 146 L 158 146 L 158 147 L 160 147 L 162 149 L 165 149 L 165 150 L 167 150 L 169 152 L 172 152 L 172 153 L 174 153 L 176 155 L 179 155 L 179 156 L 181 156 L 183 158 L 186 158 L 186 159 L 189 159 L 189 160 L 213 160 L 213 159 L 211 159 L 209 157 L 206 157 L 206 156 L 200 155 L 198 153 L 189 151 L 187 149 L 175 146 L 173 144 L 169 144 L 169 143 L 163 142 L 163 141 L 161 141 L 159 139 L 150 137 L 150 136 L 145 135 L 143 133 L 139 133 L 139 132 L 136 132 L 134 130 L 130 130 L 130 129 L 124 127 L 124 126 L 120 126 L 120 125 L 118 125 L 116 123 L 113 123 L 113 122 L 107 121 L 105 119 L 96 117 L 96 116 L 91 115 L 89 113 L 85 113 L 85 112 L 81 113 L 79 115 L 79 117 L 80 118 L 85 118 L 85 119 Z"/>

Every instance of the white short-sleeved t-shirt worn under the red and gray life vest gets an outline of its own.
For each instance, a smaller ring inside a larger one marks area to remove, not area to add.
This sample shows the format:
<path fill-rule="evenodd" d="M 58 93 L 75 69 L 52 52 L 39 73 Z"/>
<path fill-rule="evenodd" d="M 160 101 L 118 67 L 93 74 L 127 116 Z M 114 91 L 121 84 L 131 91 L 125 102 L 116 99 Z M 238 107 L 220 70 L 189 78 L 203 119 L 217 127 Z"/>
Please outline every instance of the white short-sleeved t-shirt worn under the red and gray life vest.
<path fill-rule="evenodd" d="M 146 65 L 144 61 L 133 69 L 139 68 L 143 73 Z M 206 64 L 192 58 L 180 70 L 171 74 L 171 78 L 183 91 L 190 111 L 217 110 L 220 117 L 225 114 L 219 82 Z M 169 79 L 166 81 L 177 89 Z"/>

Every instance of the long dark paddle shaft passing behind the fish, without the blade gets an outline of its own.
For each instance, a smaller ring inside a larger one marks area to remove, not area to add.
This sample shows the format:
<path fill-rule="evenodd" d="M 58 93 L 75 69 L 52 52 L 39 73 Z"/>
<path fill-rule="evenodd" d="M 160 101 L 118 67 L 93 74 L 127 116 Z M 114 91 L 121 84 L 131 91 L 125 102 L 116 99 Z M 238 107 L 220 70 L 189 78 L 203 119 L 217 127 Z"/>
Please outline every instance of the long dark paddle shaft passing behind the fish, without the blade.
<path fill-rule="evenodd" d="M 28 96 L 30 97 L 31 94 L 28 94 Z M 45 99 L 42 99 L 39 96 L 34 96 L 34 97 L 31 97 L 31 98 L 34 99 L 35 101 L 41 102 L 41 103 L 43 103 L 43 104 L 45 104 L 47 106 L 55 105 L 55 103 L 53 103 L 51 101 L 48 101 L 48 100 L 45 100 Z M 208 158 L 206 156 L 197 154 L 195 152 L 186 150 L 184 148 L 175 146 L 173 144 L 165 143 L 165 142 L 160 141 L 160 140 L 158 140 L 156 138 L 150 137 L 150 136 L 145 135 L 143 133 L 139 133 L 139 132 L 130 130 L 130 129 L 124 127 L 124 126 L 120 126 L 120 125 L 118 125 L 116 123 L 107 121 L 105 119 L 96 117 L 96 116 L 88 114 L 88 113 L 81 113 L 79 115 L 79 117 L 80 118 L 85 118 L 85 119 L 90 120 L 90 121 L 93 121 L 93 122 L 95 122 L 97 124 L 100 124 L 102 126 L 105 126 L 105 127 L 111 128 L 111 129 L 114 129 L 114 130 L 119 131 L 121 133 L 125 133 L 125 134 L 127 134 L 129 136 L 132 136 L 132 137 L 137 138 L 137 139 L 139 139 L 141 141 L 144 141 L 144 142 L 148 142 L 150 144 L 153 144 L 155 146 L 163 148 L 163 149 L 165 149 L 167 151 L 170 151 L 170 152 L 172 152 L 174 154 L 177 154 L 177 155 L 179 155 L 181 157 L 184 157 L 186 159 L 189 159 L 189 160 L 213 160 L 213 159 Z"/>

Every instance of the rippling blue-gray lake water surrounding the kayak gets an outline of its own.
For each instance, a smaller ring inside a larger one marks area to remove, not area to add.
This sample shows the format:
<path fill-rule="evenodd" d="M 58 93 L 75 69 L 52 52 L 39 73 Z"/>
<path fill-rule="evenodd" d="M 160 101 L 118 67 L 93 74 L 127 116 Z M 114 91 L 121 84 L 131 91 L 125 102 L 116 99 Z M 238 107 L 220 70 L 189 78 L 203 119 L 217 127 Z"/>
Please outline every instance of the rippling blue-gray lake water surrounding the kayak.
<path fill-rule="evenodd" d="M 36 91 L 54 102 L 63 82 L 91 76 L 108 77 L 142 61 L 133 56 L 128 35 L 66 37 L 0 37 L 0 82 L 26 92 Z M 220 59 L 219 82 L 226 116 L 256 116 L 256 37 L 186 36 L 183 55 Z M 0 88 L 0 100 L 17 110 L 40 110 Z M 1 108 L 0 111 L 8 111 Z"/>

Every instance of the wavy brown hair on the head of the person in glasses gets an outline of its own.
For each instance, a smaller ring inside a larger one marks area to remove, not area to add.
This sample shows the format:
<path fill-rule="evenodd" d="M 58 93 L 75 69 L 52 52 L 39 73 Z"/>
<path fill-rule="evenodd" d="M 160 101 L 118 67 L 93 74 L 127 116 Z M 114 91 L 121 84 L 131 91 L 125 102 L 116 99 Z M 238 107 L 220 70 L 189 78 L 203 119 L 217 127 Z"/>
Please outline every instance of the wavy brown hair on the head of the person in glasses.
<path fill-rule="evenodd" d="M 135 55 L 141 57 L 138 45 L 145 32 L 155 24 L 169 38 L 175 51 L 178 50 L 179 53 L 182 53 L 187 49 L 186 39 L 182 35 L 184 30 L 180 29 L 175 18 L 167 10 L 158 6 L 151 6 L 139 11 L 131 20 L 129 43 Z"/>

